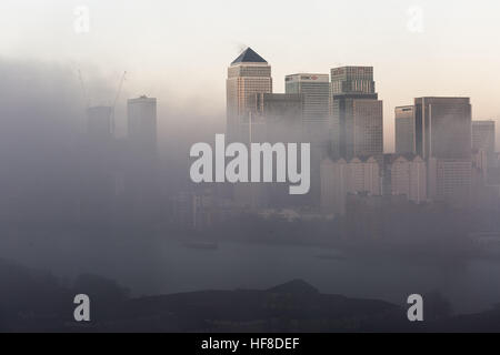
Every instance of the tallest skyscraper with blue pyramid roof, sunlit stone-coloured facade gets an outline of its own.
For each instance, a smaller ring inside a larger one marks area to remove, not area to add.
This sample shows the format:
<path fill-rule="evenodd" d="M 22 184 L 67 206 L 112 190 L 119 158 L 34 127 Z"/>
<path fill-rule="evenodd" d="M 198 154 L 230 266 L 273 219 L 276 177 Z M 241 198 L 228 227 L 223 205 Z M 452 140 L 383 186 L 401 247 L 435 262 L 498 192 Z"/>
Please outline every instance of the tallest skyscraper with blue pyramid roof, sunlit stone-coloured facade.
<path fill-rule="evenodd" d="M 226 89 L 228 140 L 238 141 L 241 140 L 242 123 L 256 109 L 256 94 L 272 92 L 271 65 L 247 48 L 229 67 Z"/>

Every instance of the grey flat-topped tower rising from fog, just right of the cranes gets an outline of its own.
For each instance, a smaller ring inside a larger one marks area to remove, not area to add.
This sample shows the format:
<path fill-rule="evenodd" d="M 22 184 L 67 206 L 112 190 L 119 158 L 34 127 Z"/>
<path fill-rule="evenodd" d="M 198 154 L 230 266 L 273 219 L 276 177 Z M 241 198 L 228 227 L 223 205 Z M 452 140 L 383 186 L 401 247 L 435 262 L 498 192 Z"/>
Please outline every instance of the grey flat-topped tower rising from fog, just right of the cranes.
<path fill-rule="evenodd" d="M 157 154 L 157 99 L 142 95 L 127 102 L 128 139 L 136 153 Z"/>

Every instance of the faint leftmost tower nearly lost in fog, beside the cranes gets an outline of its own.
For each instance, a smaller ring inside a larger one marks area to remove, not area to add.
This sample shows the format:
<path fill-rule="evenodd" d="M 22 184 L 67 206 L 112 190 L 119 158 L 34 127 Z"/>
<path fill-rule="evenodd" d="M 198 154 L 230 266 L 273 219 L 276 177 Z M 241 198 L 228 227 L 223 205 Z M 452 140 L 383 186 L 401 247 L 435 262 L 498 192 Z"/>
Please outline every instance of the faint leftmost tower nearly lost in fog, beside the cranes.
<path fill-rule="evenodd" d="M 113 109 L 92 106 L 87 109 L 87 132 L 93 142 L 109 142 L 113 136 Z"/>

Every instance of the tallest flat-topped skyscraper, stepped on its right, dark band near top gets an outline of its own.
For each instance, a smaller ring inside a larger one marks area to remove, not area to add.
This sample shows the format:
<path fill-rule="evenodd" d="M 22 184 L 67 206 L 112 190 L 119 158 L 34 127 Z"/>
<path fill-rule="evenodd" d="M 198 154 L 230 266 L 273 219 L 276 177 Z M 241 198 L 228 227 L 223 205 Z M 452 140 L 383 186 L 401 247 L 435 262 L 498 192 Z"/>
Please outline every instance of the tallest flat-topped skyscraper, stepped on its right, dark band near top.
<path fill-rule="evenodd" d="M 352 159 L 383 153 L 382 101 L 372 67 L 331 70 L 331 153 Z"/>

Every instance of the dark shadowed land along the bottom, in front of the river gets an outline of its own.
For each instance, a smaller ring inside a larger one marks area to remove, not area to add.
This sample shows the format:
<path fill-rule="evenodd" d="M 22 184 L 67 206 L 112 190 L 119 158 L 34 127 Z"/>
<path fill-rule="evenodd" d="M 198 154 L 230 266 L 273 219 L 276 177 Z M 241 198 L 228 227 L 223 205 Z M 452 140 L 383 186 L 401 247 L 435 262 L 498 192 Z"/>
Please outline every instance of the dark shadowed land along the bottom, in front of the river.
<path fill-rule="evenodd" d="M 500 308 L 449 316 L 424 296 L 424 322 L 383 301 L 321 294 L 294 280 L 269 290 L 200 291 L 128 297 L 116 282 L 81 275 L 69 286 L 50 274 L 0 261 L 1 332 L 500 332 Z M 73 297 L 91 300 L 91 322 L 73 320 Z"/>

